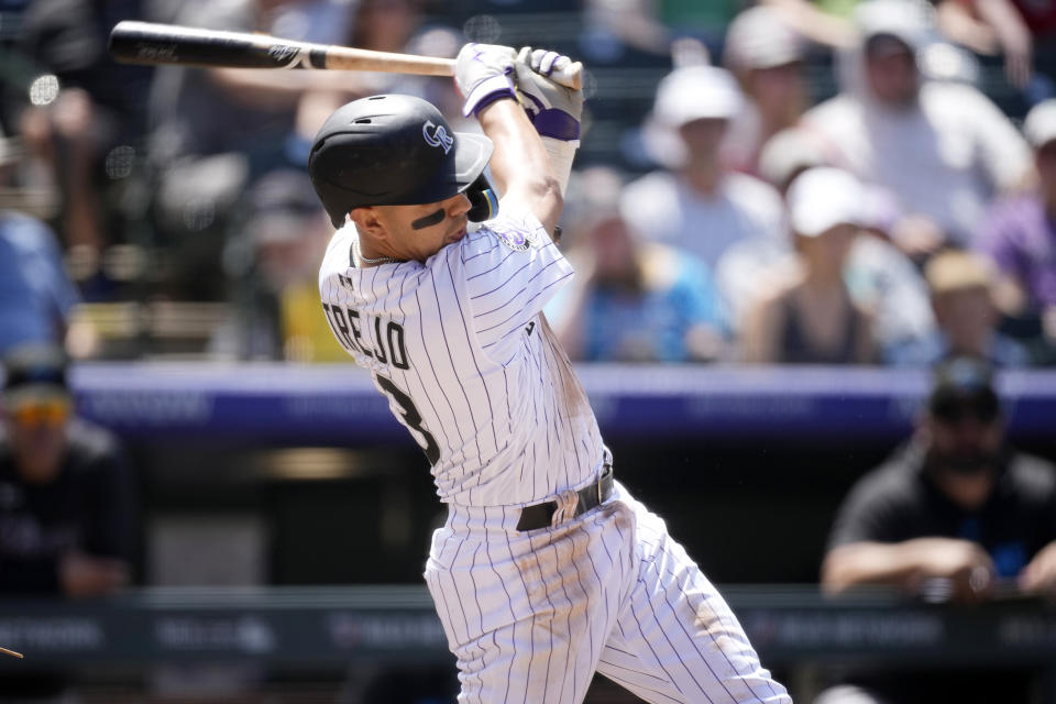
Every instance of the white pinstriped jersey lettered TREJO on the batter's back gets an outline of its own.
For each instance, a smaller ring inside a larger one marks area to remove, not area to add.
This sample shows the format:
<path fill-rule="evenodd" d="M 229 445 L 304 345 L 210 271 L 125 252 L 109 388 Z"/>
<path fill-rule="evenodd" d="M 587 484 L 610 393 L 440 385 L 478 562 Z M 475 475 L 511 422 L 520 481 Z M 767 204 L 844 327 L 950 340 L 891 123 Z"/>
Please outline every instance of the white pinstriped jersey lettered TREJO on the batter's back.
<path fill-rule="evenodd" d="M 541 316 L 573 275 L 539 221 L 502 213 L 420 262 L 358 268 L 354 226 L 319 273 L 334 336 L 432 464 L 441 501 L 520 506 L 593 482 L 606 452 Z"/>

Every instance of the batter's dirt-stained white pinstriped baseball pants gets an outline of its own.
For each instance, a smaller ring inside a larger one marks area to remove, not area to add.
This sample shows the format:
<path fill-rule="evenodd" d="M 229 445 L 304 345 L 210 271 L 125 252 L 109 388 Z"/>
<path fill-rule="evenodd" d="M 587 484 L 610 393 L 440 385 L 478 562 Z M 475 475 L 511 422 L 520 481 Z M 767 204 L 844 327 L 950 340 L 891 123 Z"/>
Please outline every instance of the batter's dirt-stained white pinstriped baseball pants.
<path fill-rule="evenodd" d="M 450 508 L 426 582 L 459 702 L 578 704 L 595 671 L 647 702 L 791 704 L 726 602 L 616 483 L 604 505 L 517 532 L 519 510 Z"/>

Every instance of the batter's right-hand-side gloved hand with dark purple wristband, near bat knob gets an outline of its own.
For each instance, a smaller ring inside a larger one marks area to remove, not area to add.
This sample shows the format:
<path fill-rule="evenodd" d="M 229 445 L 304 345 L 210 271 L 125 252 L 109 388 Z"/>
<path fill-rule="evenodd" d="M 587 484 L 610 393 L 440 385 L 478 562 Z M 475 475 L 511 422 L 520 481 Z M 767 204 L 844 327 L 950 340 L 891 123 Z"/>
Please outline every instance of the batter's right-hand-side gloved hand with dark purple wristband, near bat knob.
<path fill-rule="evenodd" d="M 565 88 L 549 78 L 551 73 L 571 63 L 568 56 L 530 46 L 517 55 L 517 99 L 539 136 L 565 142 L 580 139 L 583 91 Z"/>

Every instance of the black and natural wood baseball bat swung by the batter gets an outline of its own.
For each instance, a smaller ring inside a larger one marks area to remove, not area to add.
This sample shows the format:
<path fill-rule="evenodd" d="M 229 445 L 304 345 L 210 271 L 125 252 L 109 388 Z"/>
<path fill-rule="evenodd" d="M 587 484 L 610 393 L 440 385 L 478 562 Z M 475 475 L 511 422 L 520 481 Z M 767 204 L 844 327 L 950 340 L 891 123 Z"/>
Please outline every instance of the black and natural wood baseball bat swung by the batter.
<path fill-rule="evenodd" d="M 180 64 L 232 68 L 316 68 L 373 70 L 421 76 L 453 76 L 454 59 L 375 52 L 336 44 L 294 42 L 267 34 L 224 32 L 154 22 L 118 22 L 110 32 L 110 55 L 124 64 Z M 579 89 L 583 65 L 570 64 L 550 76 Z"/>

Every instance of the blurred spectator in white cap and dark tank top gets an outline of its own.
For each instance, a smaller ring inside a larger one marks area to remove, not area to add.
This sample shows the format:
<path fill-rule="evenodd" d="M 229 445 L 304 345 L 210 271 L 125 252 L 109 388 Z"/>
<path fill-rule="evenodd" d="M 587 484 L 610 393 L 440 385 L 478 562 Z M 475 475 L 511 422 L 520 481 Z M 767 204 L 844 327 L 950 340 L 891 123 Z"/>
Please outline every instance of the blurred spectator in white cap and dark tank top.
<path fill-rule="evenodd" d="M 875 362 L 872 316 L 859 308 L 844 282 L 844 265 L 864 217 L 861 185 L 839 169 L 811 168 L 792 182 L 788 202 L 799 267 L 784 280 L 778 278 L 748 314 L 740 328 L 745 359 Z"/>

